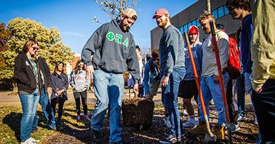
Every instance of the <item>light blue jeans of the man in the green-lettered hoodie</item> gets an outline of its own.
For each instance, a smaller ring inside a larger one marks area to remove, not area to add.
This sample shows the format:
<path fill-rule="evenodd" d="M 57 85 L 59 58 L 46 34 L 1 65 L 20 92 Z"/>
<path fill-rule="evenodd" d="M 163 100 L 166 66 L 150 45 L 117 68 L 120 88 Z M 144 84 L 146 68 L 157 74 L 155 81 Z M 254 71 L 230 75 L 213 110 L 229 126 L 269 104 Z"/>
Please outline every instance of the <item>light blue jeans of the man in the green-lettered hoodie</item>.
<path fill-rule="evenodd" d="M 109 108 L 110 138 L 109 143 L 121 141 L 120 111 L 124 91 L 122 73 L 107 73 L 100 69 L 94 71 L 94 93 L 96 108 L 91 117 L 91 128 L 100 130 Z"/>

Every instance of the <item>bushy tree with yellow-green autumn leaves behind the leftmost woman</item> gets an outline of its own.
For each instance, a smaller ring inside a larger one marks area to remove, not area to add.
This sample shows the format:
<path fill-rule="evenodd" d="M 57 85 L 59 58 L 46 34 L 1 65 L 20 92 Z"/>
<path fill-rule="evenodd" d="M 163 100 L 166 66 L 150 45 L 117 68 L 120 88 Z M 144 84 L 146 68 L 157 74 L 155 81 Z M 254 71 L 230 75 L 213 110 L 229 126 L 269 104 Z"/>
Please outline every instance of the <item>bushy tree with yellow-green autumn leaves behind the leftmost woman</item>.
<path fill-rule="evenodd" d="M 0 83 L 14 81 L 14 60 L 22 51 L 23 45 L 29 38 L 34 38 L 39 43 L 39 53 L 45 58 L 51 71 L 58 61 L 71 63 L 74 53 L 61 42 L 61 34 L 58 29 L 48 29 L 41 23 L 30 19 L 12 19 L 7 27 L 1 24 L 0 38 L 5 41 L 8 49 L 0 52 Z"/>

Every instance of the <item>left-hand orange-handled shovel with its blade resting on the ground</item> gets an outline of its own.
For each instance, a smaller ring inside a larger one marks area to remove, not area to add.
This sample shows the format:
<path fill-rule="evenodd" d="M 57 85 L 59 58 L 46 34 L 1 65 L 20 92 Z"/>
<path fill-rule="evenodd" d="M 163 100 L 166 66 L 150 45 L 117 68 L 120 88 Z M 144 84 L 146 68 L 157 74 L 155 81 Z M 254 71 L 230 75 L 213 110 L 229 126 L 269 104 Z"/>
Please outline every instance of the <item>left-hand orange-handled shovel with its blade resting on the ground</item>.
<path fill-rule="evenodd" d="M 203 97 L 202 97 L 202 93 L 201 93 L 201 86 L 199 86 L 199 77 L 197 75 L 197 69 L 196 69 L 196 66 L 195 66 L 195 61 L 194 61 L 194 58 L 193 58 L 193 54 L 192 54 L 192 51 L 191 51 L 189 39 L 188 39 L 188 36 L 187 36 L 186 32 L 184 32 L 184 39 L 185 39 L 187 47 L 188 47 L 188 53 L 189 53 L 189 56 L 190 56 L 192 69 L 193 69 L 194 75 L 195 75 L 197 90 L 199 92 L 199 99 L 201 100 L 201 108 L 202 108 L 202 111 L 203 111 L 203 117 L 206 120 L 206 128 L 207 128 L 208 133 L 206 134 L 204 141 L 206 141 L 206 142 L 208 142 L 208 141 L 217 141 L 217 136 L 215 136 L 210 130 L 208 117 L 207 117 L 207 114 L 206 114 L 206 106 L 205 106 L 204 101 L 203 101 Z"/>

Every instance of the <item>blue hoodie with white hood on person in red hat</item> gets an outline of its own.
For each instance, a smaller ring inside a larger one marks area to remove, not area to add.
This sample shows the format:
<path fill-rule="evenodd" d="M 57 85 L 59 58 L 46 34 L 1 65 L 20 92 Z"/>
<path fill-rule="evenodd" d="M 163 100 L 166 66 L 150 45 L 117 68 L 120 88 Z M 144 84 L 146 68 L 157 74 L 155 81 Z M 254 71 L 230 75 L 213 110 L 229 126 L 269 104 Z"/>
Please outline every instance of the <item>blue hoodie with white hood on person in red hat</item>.
<path fill-rule="evenodd" d="M 194 25 L 192 25 L 192 26 L 196 27 Z M 198 27 L 196 27 L 196 28 L 199 31 Z M 188 29 L 188 34 L 189 34 L 189 31 L 190 31 L 190 27 Z M 202 43 L 199 41 L 199 34 L 198 34 L 197 40 L 195 41 L 195 43 L 190 44 L 190 47 L 192 50 L 193 58 L 194 58 L 196 69 L 197 69 L 197 74 L 199 77 L 201 77 L 201 60 L 202 60 L 201 45 L 202 45 Z M 186 65 L 186 73 L 184 76 L 184 80 L 195 80 L 195 75 L 194 75 L 194 71 L 192 68 L 192 63 L 190 60 L 190 55 L 188 53 L 187 46 L 184 47 L 184 52 L 185 52 L 185 65 Z"/>

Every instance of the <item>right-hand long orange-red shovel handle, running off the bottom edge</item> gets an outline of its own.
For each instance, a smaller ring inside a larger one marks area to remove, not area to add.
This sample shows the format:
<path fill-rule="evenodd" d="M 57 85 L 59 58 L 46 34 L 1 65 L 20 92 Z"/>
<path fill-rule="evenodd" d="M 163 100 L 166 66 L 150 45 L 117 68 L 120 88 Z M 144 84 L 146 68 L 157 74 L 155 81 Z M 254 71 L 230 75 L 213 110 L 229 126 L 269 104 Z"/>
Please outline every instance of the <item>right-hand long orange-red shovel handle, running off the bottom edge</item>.
<path fill-rule="evenodd" d="M 218 45 L 217 45 L 216 33 L 214 32 L 213 21 L 210 21 L 209 23 L 210 23 L 210 29 L 211 29 L 211 34 L 212 34 L 212 44 L 214 45 L 214 53 L 216 56 L 217 68 L 218 68 L 218 72 L 219 72 L 219 84 L 221 86 L 221 94 L 223 95 L 223 106 L 224 106 L 224 110 L 225 110 L 225 119 L 226 119 L 226 125 L 227 125 L 227 130 L 228 130 L 228 137 L 229 137 L 230 143 L 232 143 L 228 104 L 226 102 L 226 97 L 225 97 L 225 90 L 224 90 L 224 84 L 223 84 L 223 73 L 221 71 L 221 61 L 219 59 L 219 49 L 218 49 Z"/>

